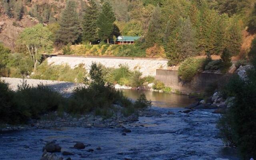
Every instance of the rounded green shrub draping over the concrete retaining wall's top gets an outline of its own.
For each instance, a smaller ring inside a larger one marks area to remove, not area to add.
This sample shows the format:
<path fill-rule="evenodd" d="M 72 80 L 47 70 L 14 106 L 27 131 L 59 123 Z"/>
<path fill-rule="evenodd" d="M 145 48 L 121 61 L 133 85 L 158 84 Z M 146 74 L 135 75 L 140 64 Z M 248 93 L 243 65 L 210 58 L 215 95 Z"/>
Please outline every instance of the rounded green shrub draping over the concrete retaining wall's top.
<path fill-rule="evenodd" d="M 193 77 L 202 71 L 204 59 L 187 58 L 180 64 L 178 76 L 184 82 L 190 82 Z"/>

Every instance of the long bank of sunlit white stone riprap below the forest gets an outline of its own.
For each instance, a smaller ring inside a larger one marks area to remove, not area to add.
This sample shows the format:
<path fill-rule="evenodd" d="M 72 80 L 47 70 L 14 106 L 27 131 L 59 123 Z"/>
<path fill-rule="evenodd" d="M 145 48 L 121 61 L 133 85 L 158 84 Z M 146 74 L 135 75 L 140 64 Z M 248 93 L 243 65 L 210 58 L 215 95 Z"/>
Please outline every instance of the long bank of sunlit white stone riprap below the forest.
<path fill-rule="evenodd" d="M 90 69 L 92 62 L 101 63 L 105 67 L 119 68 L 119 65 L 127 65 L 130 70 L 139 70 L 142 76 L 156 76 L 157 69 L 167 69 L 168 60 L 145 60 L 145 59 L 120 59 L 120 58 L 83 58 L 83 57 L 61 57 L 53 56 L 47 58 L 48 64 L 60 65 L 68 64 L 75 68 L 79 64 L 84 64 L 86 70 Z"/>

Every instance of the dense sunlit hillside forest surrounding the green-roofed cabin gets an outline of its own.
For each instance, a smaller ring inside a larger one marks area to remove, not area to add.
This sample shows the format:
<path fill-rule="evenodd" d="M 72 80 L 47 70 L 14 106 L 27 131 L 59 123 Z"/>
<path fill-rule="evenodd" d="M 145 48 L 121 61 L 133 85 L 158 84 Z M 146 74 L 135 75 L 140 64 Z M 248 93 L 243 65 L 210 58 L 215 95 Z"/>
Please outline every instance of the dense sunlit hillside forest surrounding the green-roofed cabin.
<path fill-rule="evenodd" d="M 254 34 L 254 3 L 255 0 L 1 1 L 2 13 L 14 20 L 13 25 L 18 25 L 25 15 L 42 24 L 25 28 L 16 38 L 15 48 L 10 48 L 32 59 L 25 65 L 30 69 L 21 72 L 30 72 L 31 66 L 36 68 L 42 53 L 62 50 L 64 54 L 74 54 L 77 48 L 70 45 L 76 44 L 82 44 L 78 45 L 82 54 L 89 50 L 92 55 L 164 57 L 169 59 L 169 66 L 193 56 L 221 55 L 225 48 L 230 56 L 236 56 L 241 53 L 242 31 Z M 120 35 L 141 38 L 135 45 L 109 47 Z M 242 55 L 246 58 L 246 54 Z"/>

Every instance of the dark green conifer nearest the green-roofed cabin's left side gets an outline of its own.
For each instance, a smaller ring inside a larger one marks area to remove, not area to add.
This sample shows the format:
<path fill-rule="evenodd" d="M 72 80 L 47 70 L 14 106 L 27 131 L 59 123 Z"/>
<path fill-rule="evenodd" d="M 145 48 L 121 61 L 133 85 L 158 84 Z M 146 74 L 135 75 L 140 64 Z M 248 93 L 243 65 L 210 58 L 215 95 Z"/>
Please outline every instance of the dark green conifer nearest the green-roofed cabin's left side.
<path fill-rule="evenodd" d="M 100 13 L 96 24 L 99 28 L 98 30 L 99 37 L 102 40 L 107 40 L 108 43 L 109 43 L 109 38 L 112 38 L 111 34 L 114 29 L 115 20 L 116 18 L 112 10 L 112 7 L 108 2 L 105 2 L 102 6 L 102 12 Z"/>

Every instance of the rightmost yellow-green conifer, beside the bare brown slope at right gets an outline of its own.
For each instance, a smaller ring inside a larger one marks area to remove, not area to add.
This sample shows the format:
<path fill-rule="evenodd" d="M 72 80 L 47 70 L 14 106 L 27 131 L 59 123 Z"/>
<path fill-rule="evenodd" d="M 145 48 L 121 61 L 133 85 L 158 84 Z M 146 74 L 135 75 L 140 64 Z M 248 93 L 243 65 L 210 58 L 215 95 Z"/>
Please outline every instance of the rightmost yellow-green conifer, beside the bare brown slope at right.
<path fill-rule="evenodd" d="M 242 29 L 237 19 L 232 20 L 228 32 L 227 49 L 233 56 L 238 55 L 242 44 Z"/>

